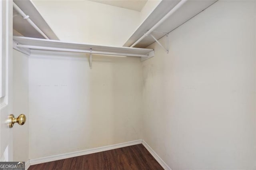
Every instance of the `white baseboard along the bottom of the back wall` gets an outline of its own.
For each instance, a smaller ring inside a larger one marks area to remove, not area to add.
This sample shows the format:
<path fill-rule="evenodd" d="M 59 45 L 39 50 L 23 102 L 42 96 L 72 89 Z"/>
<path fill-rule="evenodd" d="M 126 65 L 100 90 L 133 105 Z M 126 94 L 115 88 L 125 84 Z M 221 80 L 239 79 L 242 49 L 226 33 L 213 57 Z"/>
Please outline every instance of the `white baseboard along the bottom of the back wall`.
<path fill-rule="evenodd" d="M 109 145 L 109 146 L 102 146 L 99 148 L 86 149 L 86 150 L 81 150 L 81 151 L 77 151 L 77 152 L 70 152 L 70 153 L 66 153 L 66 154 L 59 154 L 59 155 L 53 155 L 53 156 L 46 156 L 43 158 L 31 159 L 31 160 L 29 160 L 29 166 L 35 165 L 35 164 L 42 164 L 45 162 L 51 162 L 51 161 L 55 161 L 55 160 L 72 158 L 72 157 L 76 157 L 76 156 L 93 154 L 96 152 L 102 152 L 102 151 L 106 151 L 106 150 L 123 148 L 126 146 L 132 146 L 132 145 L 141 144 L 141 143 L 142 143 L 142 139 L 134 140 L 134 141 L 130 141 L 130 142 L 124 142 L 124 143 L 120 143 L 120 144 L 113 144 L 113 145 Z"/>

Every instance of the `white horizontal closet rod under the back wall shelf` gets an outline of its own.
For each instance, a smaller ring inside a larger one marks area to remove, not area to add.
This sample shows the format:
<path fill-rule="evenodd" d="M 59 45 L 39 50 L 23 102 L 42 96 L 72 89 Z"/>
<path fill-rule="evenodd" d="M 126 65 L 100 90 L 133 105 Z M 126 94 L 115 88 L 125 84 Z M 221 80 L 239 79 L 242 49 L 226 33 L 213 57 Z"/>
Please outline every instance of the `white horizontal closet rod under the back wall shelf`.
<path fill-rule="evenodd" d="M 131 56 L 131 57 L 148 57 L 148 55 L 142 55 L 142 54 L 102 52 L 102 51 L 93 51 L 93 49 L 92 49 L 92 51 L 90 51 L 90 50 L 82 50 L 82 49 L 43 47 L 43 46 L 22 45 L 22 44 L 16 44 L 16 47 L 29 48 L 29 49 L 49 50 L 49 51 L 64 51 L 64 52 L 76 52 L 76 53 L 92 53 L 92 54 L 102 54 L 102 55 Z"/>

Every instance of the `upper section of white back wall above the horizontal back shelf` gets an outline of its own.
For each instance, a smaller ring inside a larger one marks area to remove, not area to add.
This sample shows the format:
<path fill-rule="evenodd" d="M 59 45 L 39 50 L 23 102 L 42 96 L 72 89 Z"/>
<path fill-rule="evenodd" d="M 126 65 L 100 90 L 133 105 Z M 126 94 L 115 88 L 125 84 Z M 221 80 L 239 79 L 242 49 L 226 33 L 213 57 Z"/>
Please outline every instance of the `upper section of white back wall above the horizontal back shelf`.
<path fill-rule="evenodd" d="M 33 0 L 60 40 L 123 45 L 140 24 L 140 12 L 87 0 Z"/>

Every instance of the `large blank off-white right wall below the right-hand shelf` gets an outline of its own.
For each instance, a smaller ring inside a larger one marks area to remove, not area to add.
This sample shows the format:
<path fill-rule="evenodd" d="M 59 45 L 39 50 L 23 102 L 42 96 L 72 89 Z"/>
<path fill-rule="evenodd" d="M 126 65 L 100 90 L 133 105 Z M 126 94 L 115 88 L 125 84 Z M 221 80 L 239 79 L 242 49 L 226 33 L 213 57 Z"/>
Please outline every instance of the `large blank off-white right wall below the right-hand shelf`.
<path fill-rule="evenodd" d="M 169 54 L 149 46 L 143 139 L 172 170 L 256 169 L 255 7 L 218 1 L 169 34 Z"/>

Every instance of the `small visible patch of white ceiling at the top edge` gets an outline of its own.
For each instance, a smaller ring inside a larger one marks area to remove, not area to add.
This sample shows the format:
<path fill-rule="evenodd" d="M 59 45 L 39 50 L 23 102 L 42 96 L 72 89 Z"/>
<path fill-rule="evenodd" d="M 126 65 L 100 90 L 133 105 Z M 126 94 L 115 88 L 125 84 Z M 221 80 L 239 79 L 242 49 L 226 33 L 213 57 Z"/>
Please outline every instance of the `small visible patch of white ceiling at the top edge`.
<path fill-rule="evenodd" d="M 148 0 L 90 0 L 102 4 L 141 11 Z"/>

